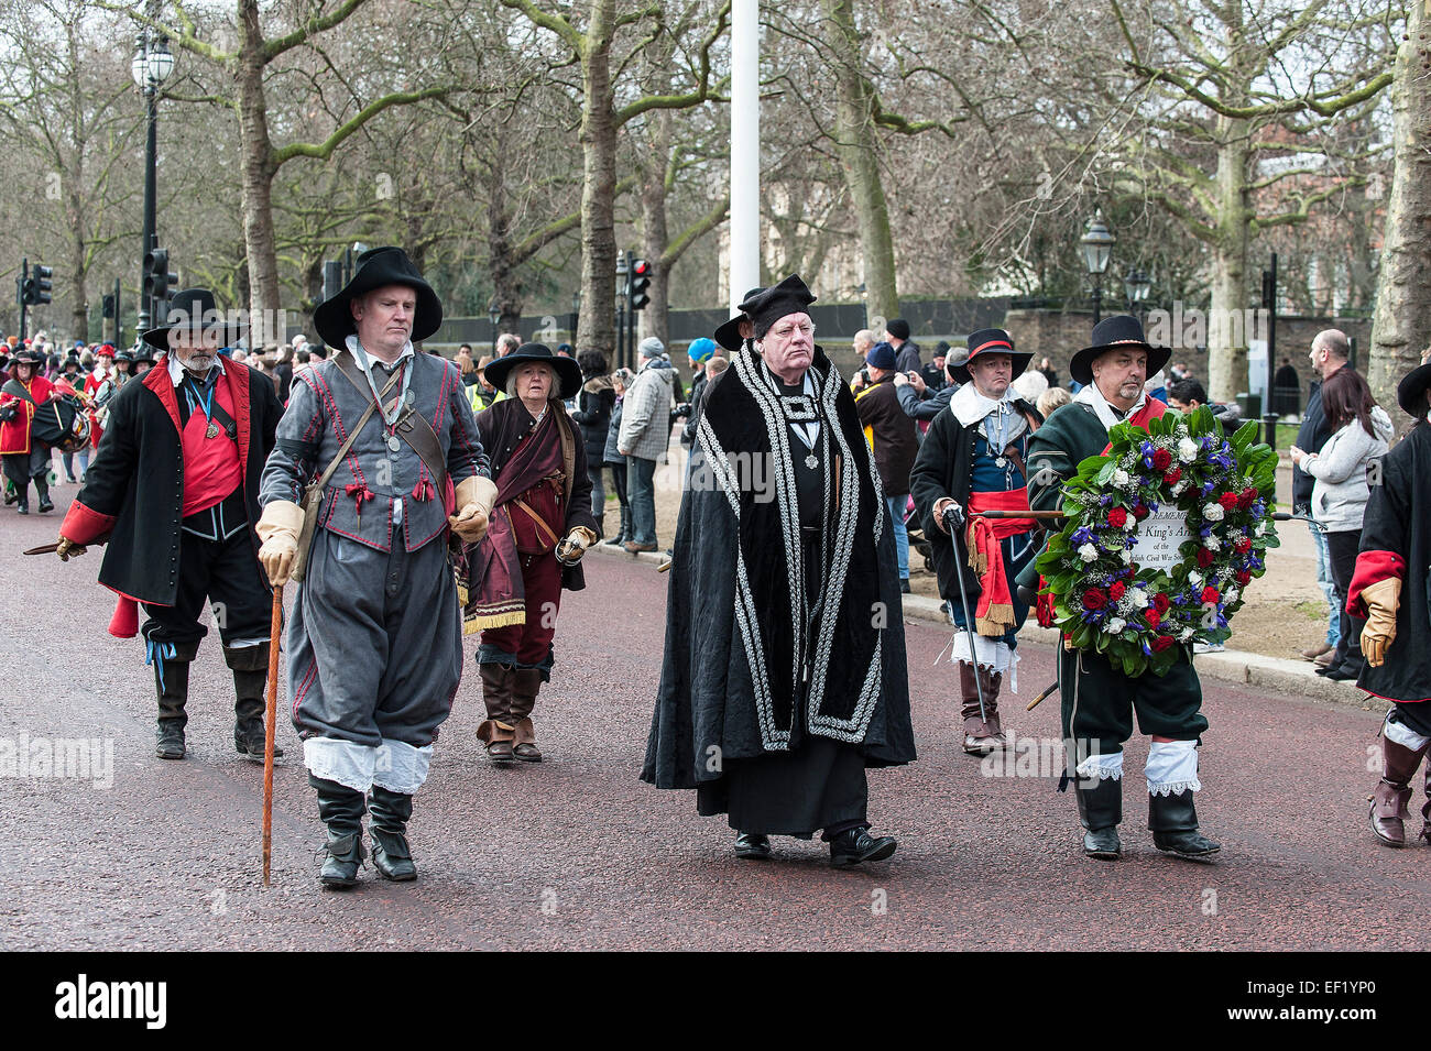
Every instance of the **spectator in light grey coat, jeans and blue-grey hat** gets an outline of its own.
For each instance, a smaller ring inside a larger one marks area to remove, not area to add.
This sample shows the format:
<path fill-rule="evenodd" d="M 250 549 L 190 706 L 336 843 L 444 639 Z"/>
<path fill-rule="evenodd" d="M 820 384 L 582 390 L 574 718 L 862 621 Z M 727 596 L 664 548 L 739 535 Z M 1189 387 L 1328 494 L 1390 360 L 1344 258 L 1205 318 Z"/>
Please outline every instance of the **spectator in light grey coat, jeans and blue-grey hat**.
<path fill-rule="evenodd" d="M 631 500 L 631 536 L 621 546 L 633 555 L 657 551 L 655 465 L 671 443 L 671 400 L 675 369 L 663 357 L 665 346 L 655 336 L 641 340 L 641 370 L 627 389 L 621 410 L 617 452 L 627 458 L 627 496 Z"/>

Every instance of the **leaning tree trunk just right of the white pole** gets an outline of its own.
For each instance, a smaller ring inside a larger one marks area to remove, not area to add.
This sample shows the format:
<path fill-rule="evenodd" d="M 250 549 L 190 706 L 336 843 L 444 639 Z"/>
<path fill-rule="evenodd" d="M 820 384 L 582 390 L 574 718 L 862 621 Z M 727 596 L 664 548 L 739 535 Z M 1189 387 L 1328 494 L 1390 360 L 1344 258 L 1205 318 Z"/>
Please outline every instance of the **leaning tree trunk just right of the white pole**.
<path fill-rule="evenodd" d="M 869 316 L 887 320 L 899 316 L 894 237 L 880 180 L 870 84 L 861 69 L 861 39 L 854 24 L 853 0 L 824 0 L 824 6 L 834 30 L 830 40 L 837 90 L 834 147 L 859 227 Z M 813 273 L 804 276 L 816 279 Z"/>

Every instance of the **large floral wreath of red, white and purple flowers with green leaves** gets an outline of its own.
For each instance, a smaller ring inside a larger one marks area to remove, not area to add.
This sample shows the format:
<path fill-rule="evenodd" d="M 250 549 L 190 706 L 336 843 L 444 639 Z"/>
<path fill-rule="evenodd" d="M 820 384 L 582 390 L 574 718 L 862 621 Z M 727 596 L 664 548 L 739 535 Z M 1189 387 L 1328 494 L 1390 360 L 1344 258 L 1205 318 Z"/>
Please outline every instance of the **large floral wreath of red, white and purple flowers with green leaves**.
<path fill-rule="evenodd" d="M 1228 440 L 1212 410 L 1169 412 L 1148 429 L 1118 423 L 1102 456 L 1063 486 L 1063 528 L 1037 559 L 1039 622 L 1125 675 L 1163 675 L 1193 642 L 1224 642 L 1242 592 L 1266 572 L 1276 453 L 1248 420 Z M 1186 516 L 1192 539 L 1171 569 L 1133 562 L 1138 523 L 1159 508 Z"/>

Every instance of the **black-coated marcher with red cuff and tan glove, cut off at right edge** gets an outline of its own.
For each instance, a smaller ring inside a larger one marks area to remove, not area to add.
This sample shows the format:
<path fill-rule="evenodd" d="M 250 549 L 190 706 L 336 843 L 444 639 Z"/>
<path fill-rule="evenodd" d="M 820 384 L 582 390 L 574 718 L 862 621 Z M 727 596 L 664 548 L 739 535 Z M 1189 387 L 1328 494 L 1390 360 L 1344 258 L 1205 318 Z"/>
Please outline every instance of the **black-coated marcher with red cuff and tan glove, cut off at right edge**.
<path fill-rule="evenodd" d="M 1371 796 L 1371 831 L 1388 847 L 1407 842 L 1402 821 L 1411 778 L 1431 749 L 1431 363 L 1397 388 L 1415 425 L 1368 472 L 1371 499 L 1361 528 L 1361 553 L 1347 589 L 1347 612 L 1365 618 L 1361 649 L 1367 662 L 1357 685 L 1391 701 L 1381 726 L 1382 774 Z M 1431 764 L 1420 837 L 1431 842 Z"/>

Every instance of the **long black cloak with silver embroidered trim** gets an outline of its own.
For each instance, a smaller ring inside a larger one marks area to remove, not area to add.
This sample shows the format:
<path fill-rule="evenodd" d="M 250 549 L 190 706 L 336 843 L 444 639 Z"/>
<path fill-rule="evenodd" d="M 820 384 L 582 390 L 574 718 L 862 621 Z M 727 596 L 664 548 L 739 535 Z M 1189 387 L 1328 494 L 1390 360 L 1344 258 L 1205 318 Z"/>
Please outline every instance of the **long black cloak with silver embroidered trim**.
<path fill-rule="evenodd" d="M 665 655 L 641 779 L 695 788 L 724 759 L 857 746 L 914 759 L 894 532 L 854 396 L 816 347 L 814 453 L 824 472 L 823 583 L 810 608 L 786 409 L 746 347 L 707 385 L 675 528 Z M 787 406 L 790 408 L 790 406 Z M 793 418 L 791 418 L 793 419 Z M 833 423 L 833 426 L 831 426 Z M 794 445 L 794 449 L 791 449 Z"/>

